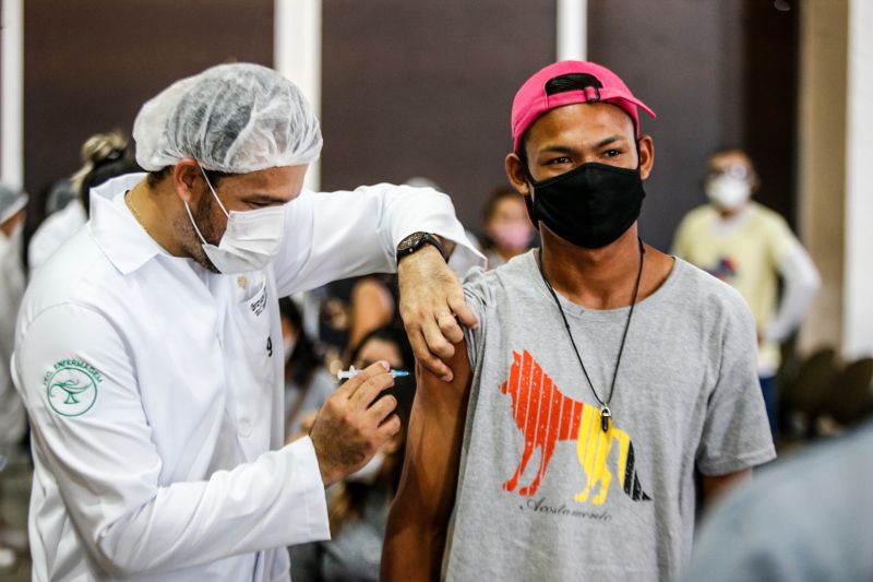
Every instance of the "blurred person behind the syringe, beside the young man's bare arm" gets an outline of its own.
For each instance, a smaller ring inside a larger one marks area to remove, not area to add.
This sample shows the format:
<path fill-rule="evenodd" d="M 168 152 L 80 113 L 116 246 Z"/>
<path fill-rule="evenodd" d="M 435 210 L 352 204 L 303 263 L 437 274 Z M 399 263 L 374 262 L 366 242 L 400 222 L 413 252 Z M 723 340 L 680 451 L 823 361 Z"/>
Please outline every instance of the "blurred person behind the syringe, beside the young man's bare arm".
<path fill-rule="evenodd" d="M 368 333 L 351 351 L 347 366 L 362 370 L 376 361 L 393 369 L 411 371 L 412 348 L 403 328 L 388 325 Z M 346 477 L 327 502 L 330 542 L 290 548 L 294 582 L 375 582 L 388 509 L 403 470 L 406 429 L 415 396 L 410 375 L 398 378 L 392 393 L 403 428 L 361 470 Z"/>

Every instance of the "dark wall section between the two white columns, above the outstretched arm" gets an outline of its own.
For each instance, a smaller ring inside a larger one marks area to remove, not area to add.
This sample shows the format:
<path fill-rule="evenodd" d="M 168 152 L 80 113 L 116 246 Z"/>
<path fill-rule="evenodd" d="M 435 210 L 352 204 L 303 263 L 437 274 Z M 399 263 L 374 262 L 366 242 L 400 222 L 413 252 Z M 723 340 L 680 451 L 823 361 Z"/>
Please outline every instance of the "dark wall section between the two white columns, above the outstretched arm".
<path fill-rule="evenodd" d="M 468 227 L 506 183 L 515 91 L 554 59 L 554 0 L 323 4 L 322 187 L 424 176 Z"/>

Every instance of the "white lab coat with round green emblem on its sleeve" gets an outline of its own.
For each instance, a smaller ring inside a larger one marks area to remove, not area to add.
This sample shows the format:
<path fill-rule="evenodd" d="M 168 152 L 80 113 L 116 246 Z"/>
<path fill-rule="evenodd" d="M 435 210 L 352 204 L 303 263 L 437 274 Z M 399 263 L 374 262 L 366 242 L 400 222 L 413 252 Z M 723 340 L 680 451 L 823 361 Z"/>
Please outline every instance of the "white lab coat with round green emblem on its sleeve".
<path fill-rule="evenodd" d="M 312 442 L 283 447 L 277 298 L 391 271 L 417 230 L 481 259 L 447 197 L 380 185 L 301 193 L 271 266 L 217 275 L 137 224 L 123 192 L 142 177 L 93 193 L 22 305 L 34 580 L 288 580 L 285 546 L 330 532 Z"/>

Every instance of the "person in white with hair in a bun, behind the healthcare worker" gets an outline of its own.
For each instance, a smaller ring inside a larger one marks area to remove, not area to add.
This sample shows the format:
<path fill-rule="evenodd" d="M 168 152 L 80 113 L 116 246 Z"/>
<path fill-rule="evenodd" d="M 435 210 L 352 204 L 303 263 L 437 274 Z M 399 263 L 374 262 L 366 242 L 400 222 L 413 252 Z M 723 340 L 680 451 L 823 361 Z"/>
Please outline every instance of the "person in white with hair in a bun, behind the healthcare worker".
<path fill-rule="evenodd" d="M 88 219 L 91 189 L 121 174 L 140 171 L 135 162 L 125 157 L 128 140 L 120 132 L 96 133 L 82 145 L 84 165 L 71 178 L 76 197 L 62 210 L 49 215 L 31 237 L 27 268 L 34 273 L 61 245 L 67 242 Z M 107 171 L 112 168 L 117 171 Z M 96 173 L 103 177 L 95 179 Z"/>

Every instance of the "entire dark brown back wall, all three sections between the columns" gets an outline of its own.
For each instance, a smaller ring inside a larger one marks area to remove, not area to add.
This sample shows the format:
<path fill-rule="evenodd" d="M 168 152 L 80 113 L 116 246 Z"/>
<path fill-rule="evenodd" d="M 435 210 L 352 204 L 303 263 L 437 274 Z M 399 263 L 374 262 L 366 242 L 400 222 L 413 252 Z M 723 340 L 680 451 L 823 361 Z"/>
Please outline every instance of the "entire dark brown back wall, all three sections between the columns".
<path fill-rule="evenodd" d="M 656 170 L 643 234 L 668 248 L 704 201 L 709 151 L 748 147 L 760 199 L 793 218 L 798 8 L 758 0 L 589 0 L 589 58 L 659 115 L 644 120 Z M 792 4 L 798 4 L 797 2 Z M 453 194 L 471 228 L 505 183 L 518 85 L 554 59 L 554 0 L 325 0 L 322 185 L 412 176 Z M 273 62 L 273 1 L 80 0 L 25 4 L 25 186 L 43 195 L 79 165 L 89 134 L 130 132 L 144 99 L 227 61 Z"/>

